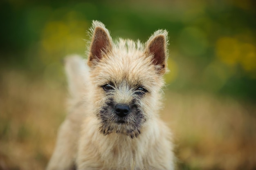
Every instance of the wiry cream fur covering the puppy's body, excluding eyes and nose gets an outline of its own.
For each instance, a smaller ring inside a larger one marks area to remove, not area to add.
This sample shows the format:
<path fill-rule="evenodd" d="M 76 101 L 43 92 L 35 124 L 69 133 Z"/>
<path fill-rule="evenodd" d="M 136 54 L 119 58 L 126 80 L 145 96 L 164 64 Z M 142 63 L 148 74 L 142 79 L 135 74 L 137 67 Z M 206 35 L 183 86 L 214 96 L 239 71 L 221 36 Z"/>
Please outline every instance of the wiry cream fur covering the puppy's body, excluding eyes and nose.
<path fill-rule="evenodd" d="M 130 170 L 132 160 L 135 170 L 173 170 L 171 133 L 158 116 L 167 31 L 156 31 L 144 45 L 113 42 L 101 22 L 90 30 L 89 67 L 78 57 L 66 61 L 73 102 L 47 170 Z M 106 84 L 112 89 L 104 90 Z M 117 104 L 130 113 L 118 117 Z"/>

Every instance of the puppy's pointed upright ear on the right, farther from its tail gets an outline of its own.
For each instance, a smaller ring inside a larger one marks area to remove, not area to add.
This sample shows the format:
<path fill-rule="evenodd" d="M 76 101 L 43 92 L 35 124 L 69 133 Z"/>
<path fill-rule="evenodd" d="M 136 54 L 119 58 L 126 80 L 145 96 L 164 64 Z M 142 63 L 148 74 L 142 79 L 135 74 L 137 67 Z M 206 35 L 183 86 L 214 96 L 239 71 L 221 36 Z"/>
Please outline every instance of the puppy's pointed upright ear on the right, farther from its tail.
<path fill-rule="evenodd" d="M 155 65 L 158 74 L 163 75 L 167 70 L 168 32 L 166 30 L 156 31 L 146 43 L 146 55 L 152 56 L 152 63 Z"/>

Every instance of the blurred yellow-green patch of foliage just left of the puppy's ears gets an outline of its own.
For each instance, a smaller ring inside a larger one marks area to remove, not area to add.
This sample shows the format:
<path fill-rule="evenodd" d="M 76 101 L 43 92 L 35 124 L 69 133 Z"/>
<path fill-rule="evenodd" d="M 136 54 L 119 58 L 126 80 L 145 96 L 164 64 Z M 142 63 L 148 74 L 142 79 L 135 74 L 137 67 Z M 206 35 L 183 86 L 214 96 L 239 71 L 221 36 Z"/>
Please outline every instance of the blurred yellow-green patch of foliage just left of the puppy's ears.
<path fill-rule="evenodd" d="M 61 19 L 47 22 L 42 31 L 41 60 L 49 64 L 65 55 L 83 54 L 87 29 L 88 23 L 75 11 L 68 11 Z"/>

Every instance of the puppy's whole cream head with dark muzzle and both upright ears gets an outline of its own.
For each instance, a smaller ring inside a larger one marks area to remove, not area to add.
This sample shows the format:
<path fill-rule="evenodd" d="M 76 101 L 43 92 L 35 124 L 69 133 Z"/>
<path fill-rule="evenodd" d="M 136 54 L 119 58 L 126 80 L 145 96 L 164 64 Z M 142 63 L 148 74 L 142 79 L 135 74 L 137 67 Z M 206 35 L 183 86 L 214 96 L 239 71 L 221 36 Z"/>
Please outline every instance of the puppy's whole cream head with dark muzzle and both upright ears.
<path fill-rule="evenodd" d="M 100 132 L 137 137 L 159 108 L 166 71 L 166 32 L 153 35 L 146 47 L 121 39 L 114 44 L 103 24 L 94 22 L 88 65 Z"/>

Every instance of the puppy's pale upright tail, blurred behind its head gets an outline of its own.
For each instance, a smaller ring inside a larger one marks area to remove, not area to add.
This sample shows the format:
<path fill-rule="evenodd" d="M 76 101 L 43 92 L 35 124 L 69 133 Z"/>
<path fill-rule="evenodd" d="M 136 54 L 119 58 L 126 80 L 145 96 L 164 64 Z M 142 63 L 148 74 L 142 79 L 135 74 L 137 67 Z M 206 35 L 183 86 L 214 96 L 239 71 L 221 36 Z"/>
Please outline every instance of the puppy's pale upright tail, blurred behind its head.
<path fill-rule="evenodd" d="M 67 56 L 64 62 L 70 97 L 72 100 L 81 100 L 85 95 L 89 72 L 88 66 L 79 55 Z"/>

